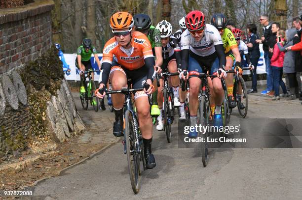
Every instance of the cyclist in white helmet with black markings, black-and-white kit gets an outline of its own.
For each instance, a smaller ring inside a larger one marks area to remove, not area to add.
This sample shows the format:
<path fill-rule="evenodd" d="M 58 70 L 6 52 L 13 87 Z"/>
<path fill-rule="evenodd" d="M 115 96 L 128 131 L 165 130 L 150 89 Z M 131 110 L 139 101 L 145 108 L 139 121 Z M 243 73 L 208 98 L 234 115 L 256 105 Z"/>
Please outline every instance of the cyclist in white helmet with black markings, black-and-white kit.
<path fill-rule="evenodd" d="M 156 26 L 156 29 L 160 31 L 161 37 L 161 49 L 162 49 L 162 58 L 163 63 L 161 65 L 161 69 L 163 72 L 169 71 L 170 73 L 177 72 L 177 66 L 180 66 L 181 63 L 181 54 L 180 54 L 180 46 L 178 40 L 171 36 L 172 34 L 172 25 L 163 20 L 159 22 Z M 181 103 L 179 102 L 179 85 L 180 81 L 177 76 L 170 77 L 170 83 L 173 87 L 173 94 L 174 94 L 174 106 L 179 107 Z M 160 80 L 160 87 L 158 87 L 157 93 L 157 102 L 158 107 L 160 108 L 160 115 L 157 117 L 157 130 L 163 130 L 162 124 L 162 86 L 163 82 Z M 183 112 L 185 114 L 185 111 Z"/>

